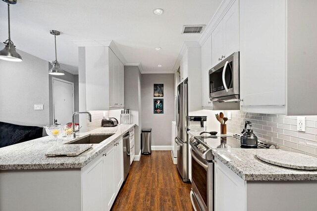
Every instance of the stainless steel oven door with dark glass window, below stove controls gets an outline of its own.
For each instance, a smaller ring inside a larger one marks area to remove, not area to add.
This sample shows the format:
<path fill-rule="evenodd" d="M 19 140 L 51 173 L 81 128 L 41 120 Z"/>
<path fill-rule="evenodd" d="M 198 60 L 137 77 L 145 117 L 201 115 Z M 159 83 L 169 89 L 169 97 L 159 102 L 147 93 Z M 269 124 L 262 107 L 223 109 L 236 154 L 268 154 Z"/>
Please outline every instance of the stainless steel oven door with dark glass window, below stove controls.
<path fill-rule="evenodd" d="M 192 157 L 192 190 L 202 211 L 213 210 L 212 163 L 203 160 L 191 149 Z M 195 206 L 195 204 L 193 204 Z M 198 208 L 195 208 L 199 210 Z"/>

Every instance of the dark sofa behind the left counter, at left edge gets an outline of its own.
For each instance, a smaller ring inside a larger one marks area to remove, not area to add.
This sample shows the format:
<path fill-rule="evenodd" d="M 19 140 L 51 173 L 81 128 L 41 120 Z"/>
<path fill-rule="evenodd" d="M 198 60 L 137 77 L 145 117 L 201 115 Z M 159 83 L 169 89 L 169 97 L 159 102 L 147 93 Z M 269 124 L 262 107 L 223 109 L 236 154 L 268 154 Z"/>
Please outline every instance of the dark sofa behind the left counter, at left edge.
<path fill-rule="evenodd" d="M 43 127 L 0 122 L 0 148 L 43 136 Z"/>

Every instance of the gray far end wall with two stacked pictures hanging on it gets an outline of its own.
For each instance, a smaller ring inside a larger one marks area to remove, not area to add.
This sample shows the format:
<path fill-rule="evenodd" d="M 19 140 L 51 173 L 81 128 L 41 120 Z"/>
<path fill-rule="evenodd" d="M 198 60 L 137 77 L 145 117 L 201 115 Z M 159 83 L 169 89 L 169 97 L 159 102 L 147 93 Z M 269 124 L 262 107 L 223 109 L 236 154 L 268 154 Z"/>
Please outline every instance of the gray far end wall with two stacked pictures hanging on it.
<path fill-rule="evenodd" d="M 164 84 L 164 114 L 153 114 L 154 84 Z M 174 107 L 174 74 L 143 74 L 142 127 L 152 128 L 152 146 L 170 146 Z"/>

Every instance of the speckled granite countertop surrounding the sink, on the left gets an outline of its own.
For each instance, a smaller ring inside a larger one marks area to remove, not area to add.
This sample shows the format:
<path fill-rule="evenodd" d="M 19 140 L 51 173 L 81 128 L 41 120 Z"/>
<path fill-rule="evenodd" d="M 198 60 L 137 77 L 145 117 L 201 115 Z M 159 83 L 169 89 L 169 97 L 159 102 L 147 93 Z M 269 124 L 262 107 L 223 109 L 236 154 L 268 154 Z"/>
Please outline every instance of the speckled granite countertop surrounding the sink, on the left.
<path fill-rule="evenodd" d="M 99 127 L 89 132 L 76 133 L 74 138 L 60 138 L 53 140 L 52 136 L 45 136 L 31 141 L 0 148 L 0 170 L 20 169 L 79 169 L 105 151 L 113 142 L 135 125 L 119 125 L 116 127 Z M 76 157 L 46 157 L 48 149 L 77 140 L 89 134 L 113 134 L 99 144 Z"/>

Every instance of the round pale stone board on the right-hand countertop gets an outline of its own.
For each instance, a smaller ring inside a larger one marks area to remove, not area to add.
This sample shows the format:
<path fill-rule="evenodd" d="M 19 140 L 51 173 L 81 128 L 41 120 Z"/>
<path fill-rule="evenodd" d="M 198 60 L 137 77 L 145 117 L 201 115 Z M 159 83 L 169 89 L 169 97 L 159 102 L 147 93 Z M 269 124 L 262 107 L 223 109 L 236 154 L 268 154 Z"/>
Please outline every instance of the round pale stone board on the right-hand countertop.
<path fill-rule="evenodd" d="M 263 150 L 257 158 L 269 164 L 290 169 L 317 170 L 317 158 L 283 150 Z"/>

